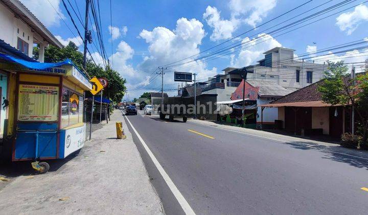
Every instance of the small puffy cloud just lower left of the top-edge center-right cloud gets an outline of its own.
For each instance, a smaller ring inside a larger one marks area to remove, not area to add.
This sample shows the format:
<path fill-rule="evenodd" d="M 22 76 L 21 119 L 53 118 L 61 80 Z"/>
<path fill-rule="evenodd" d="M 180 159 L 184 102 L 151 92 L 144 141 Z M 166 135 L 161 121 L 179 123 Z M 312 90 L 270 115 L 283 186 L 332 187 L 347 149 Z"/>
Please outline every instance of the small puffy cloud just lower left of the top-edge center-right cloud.
<path fill-rule="evenodd" d="M 206 8 L 206 12 L 203 13 L 203 18 L 206 20 L 207 24 L 213 28 L 213 33 L 210 36 L 212 41 L 233 37 L 232 34 L 239 24 L 239 21 L 235 18 L 231 20 L 222 19 L 217 8 L 211 6 Z"/>

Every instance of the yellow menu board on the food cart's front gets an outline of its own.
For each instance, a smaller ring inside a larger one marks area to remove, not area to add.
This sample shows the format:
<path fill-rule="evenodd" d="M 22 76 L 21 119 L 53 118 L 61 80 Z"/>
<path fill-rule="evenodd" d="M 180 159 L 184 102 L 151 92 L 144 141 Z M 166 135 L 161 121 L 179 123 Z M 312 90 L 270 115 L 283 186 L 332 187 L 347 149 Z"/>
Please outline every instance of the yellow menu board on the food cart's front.
<path fill-rule="evenodd" d="M 18 121 L 57 121 L 59 87 L 19 84 Z"/>

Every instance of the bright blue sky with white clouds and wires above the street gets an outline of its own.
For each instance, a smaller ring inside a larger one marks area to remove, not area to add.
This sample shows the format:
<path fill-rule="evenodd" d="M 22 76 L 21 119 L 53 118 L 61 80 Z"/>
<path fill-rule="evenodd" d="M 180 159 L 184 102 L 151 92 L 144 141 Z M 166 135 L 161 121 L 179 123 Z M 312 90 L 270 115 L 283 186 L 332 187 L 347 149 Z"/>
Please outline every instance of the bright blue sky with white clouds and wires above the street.
<path fill-rule="evenodd" d="M 71 23 L 61 0 L 21 0 L 59 40 L 67 44 L 69 40 L 81 45 L 76 37 L 77 31 Z M 84 16 L 85 1 L 69 0 L 74 9 L 78 8 Z M 97 0 L 95 0 L 97 4 Z M 308 3 L 307 3 L 308 2 Z M 223 46 L 236 44 L 240 40 L 248 41 L 259 36 L 271 26 L 285 22 L 285 20 L 310 10 L 318 5 L 326 3 L 319 8 L 310 11 L 293 20 L 305 17 L 325 9 L 340 1 L 290 1 L 290 0 L 230 0 L 230 1 L 118 1 L 112 0 L 112 28 L 110 28 L 110 4 L 109 1 L 100 1 L 101 26 L 104 37 L 104 45 L 108 57 L 112 61 L 113 68 L 127 79 L 130 97 L 138 97 L 145 91 L 154 91 L 160 87 L 159 78 L 152 79 L 152 70 L 221 44 L 221 42 L 238 34 L 246 32 L 254 27 L 255 30 L 242 35 L 238 39 L 226 42 Z M 82 34 L 83 28 L 75 16 L 68 1 L 65 3 L 74 17 Z M 306 5 L 292 11 L 277 20 L 258 27 L 264 22 L 285 13 L 297 6 Z M 340 7 L 320 17 L 325 17 L 335 12 L 348 9 L 362 1 L 351 1 L 346 6 Z M 55 8 L 53 8 L 52 6 Z M 283 46 L 295 49 L 296 54 L 313 54 L 314 51 L 355 41 L 368 37 L 368 5 L 366 3 L 332 15 L 314 24 L 297 29 L 285 35 L 264 35 L 265 41 L 240 52 L 230 53 L 223 57 L 208 61 L 192 63 L 192 67 L 177 67 L 168 69 L 165 75 L 165 89 L 172 90 L 177 87 L 173 82 L 173 70 L 182 72 L 196 72 L 198 79 L 204 80 L 209 76 L 221 73 L 226 67 L 244 67 L 255 63 L 262 58 L 262 53 L 275 46 Z M 66 24 L 72 29 L 74 35 L 67 29 L 57 10 Z M 316 19 L 313 19 L 316 20 Z M 280 24 L 281 27 L 284 24 Z M 89 25 L 90 27 L 90 25 Z M 111 31 L 113 46 L 111 47 Z M 273 29 L 272 29 L 273 30 Z M 97 38 L 94 38 L 97 40 Z M 316 44 L 313 44 L 315 42 Z M 220 46 L 218 48 L 221 48 Z M 309 46 L 309 47 L 308 47 Z M 88 46 L 93 52 L 94 46 Z M 80 50 L 82 50 L 80 46 Z M 214 51 L 215 48 L 211 51 Z M 112 52 L 111 52 L 112 50 Z M 96 50 L 95 50 L 96 51 Z M 357 62 L 366 58 L 364 51 L 357 51 L 356 58 L 349 58 L 351 62 Z M 211 53 L 210 51 L 208 53 Z M 205 54 L 205 53 L 204 53 Z M 342 53 L 343 55 L 344 53 Z M 368 54 L 368 53 L 366 53 Z M 102 59 L 98 53 L 93 54 L 98 62 Z M 193 57 L 188 59 L 192 60 Z M 355 61 L 354 61 L 355 60 Z M 134 91 L 133 91 L 134 90 Z M 173 92 L 174 93 L 174 92 Z"/>

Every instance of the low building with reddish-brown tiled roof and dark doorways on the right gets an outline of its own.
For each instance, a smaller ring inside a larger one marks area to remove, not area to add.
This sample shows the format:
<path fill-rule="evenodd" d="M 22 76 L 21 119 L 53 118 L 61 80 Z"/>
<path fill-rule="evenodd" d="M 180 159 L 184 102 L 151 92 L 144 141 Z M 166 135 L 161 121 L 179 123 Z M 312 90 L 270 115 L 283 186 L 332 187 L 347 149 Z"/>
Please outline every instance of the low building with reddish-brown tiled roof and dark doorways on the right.
<path fill-rule="evenodd" d="M 297 135 L 340 137 L 343 133 L 351 132 L 350 107 L 324 103 L 317 90 L 320 83 L 310 84 L 259 106 L 262 109 L 277 109 L 282 128 Z"/>

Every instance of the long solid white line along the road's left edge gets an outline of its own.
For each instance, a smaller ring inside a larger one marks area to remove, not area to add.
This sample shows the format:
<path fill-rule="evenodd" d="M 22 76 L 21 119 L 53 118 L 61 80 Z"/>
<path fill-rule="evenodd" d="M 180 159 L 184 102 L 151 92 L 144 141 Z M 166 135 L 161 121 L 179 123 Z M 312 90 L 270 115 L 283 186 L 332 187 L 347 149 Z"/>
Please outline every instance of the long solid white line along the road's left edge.
<path fill-rule="evenodd" d="M 182 196 L 179 189 L 175 186 L 174 182 L 170 179 L 170 177 L 166 173 L 165 169 L 162 167 L 162 165 L 158 162 L 156 157 L 153 155 L 153 153 L 151 152 L 151 150 L 147 146 L 146 142 L 142 139 L 141 135 L 138 134 L 138 132 L 135 130 L 134 126 L 132 125 L 132 123 L 129 121 L 129 119 L 126 116 L 125 116 L 125 119 L 129 122 L 130 126 L 133 128 L 133 131 L 134 131 L 135 135 L 141 141 L 143 147 L 146 149 L 146 152 L 148 153 L 148 155 L 152 159 L 152 162 L 154 163 L 154 165 L 158 169 L 161 176 L 164 178 L 166 184 L 169 186 L 171 192 L 175 196 L 176 200 L 179 202 L 179 204 L 180 204 L 181 208 L 183 209 L 183 211 L 186 214 L 195 214 L 192 207 L 188 204 L 187 200 Z"/>

